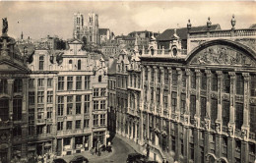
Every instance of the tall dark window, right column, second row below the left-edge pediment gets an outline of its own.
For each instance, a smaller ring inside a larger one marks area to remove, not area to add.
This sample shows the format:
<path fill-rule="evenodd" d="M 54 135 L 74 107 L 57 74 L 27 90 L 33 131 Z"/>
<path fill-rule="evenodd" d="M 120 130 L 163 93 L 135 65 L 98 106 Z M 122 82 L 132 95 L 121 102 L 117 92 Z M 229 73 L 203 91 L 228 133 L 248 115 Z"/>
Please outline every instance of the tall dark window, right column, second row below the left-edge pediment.
<path fill-rule="evenodd" d="M 23 106 L 22 97 L 15 97 L 13 99 L 13 119 L 14 119 L 14 121 L 22 120 L 22 106 Z"/>

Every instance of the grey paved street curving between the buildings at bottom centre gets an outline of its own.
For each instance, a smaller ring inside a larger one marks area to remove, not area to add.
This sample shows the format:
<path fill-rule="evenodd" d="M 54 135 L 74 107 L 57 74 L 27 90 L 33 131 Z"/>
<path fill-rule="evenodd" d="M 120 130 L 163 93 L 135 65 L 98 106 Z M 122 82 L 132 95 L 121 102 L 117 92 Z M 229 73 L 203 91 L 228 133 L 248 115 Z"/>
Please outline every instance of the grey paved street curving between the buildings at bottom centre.
<path fill-rule="evenodd" d="M 113 163 L 125 163 L 129 153 L 136 152 L 131 146 L 122 141 L 118 137 L 114 137 L 112 140 L 113 154 L 107 158 L 95 158 L 94 160 L 89 160 L 90 163 L 104 163 L 104 162 L 113 162 Z"/>

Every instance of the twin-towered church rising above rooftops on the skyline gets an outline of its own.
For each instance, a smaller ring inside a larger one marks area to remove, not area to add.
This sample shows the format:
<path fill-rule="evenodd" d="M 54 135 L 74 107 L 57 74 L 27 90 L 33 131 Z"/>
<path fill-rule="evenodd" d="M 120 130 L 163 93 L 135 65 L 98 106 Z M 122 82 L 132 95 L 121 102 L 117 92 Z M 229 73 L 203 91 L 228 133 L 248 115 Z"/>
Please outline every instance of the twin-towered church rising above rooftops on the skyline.
<path fill-rule="evenodd" d="M 87 24 L 85 25 L 84 15 L 81 13 L 74 14 L 73 37 L 86 40 L 87 43 L 98 44 L 98 16 L 96 13 L 89 13 Z"/>

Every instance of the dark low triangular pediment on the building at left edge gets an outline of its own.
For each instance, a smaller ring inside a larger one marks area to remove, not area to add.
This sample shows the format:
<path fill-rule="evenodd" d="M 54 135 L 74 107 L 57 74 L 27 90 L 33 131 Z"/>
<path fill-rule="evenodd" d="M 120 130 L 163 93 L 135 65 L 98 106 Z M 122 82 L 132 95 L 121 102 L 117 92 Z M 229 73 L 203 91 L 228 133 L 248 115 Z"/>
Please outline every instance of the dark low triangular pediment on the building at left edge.
<path fill-rule="evenodd" d="M 28 69 L 26 67 L 6 61 L 0 62 L 0 70 L 1 72 L 28 72 Z"/>

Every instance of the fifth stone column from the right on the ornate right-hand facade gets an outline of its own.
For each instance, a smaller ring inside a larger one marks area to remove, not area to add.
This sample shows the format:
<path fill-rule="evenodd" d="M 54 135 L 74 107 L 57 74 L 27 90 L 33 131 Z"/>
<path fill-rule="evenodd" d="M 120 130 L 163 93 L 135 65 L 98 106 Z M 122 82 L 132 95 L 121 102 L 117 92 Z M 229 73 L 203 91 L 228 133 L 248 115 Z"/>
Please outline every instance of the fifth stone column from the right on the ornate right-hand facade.
<path fill-rule="evenodd" d="M 196 128 L 200 128 L 200 112 L 201 112 L 201 72 L 200 70 L 195 70 L 196 72 L 196 114 L 195 114 L 195 125 Z"/>

